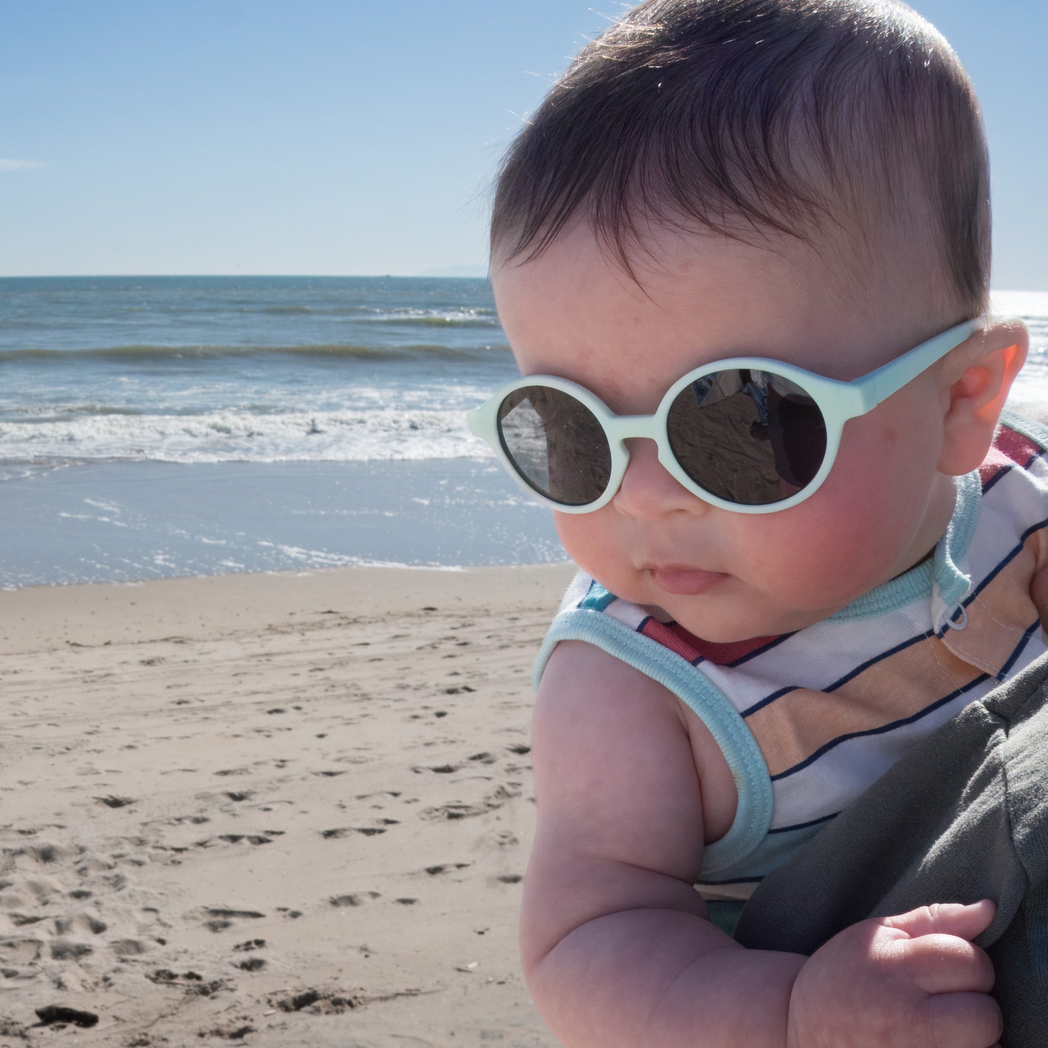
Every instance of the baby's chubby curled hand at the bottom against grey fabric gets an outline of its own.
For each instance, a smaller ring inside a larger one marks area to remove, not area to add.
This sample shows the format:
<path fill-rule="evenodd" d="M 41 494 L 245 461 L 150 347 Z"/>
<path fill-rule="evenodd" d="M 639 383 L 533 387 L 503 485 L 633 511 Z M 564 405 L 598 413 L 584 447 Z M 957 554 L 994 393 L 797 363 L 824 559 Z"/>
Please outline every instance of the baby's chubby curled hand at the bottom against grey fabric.
<path fill-rule="evenodd" d="M 989 1048 L 1001 1009 L 994 966 L 970 940 L 996 908 L 937 903 L 861 921 L 798 975 L 788 1048 Z"/>

